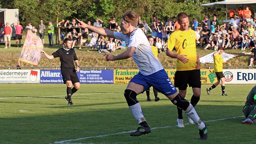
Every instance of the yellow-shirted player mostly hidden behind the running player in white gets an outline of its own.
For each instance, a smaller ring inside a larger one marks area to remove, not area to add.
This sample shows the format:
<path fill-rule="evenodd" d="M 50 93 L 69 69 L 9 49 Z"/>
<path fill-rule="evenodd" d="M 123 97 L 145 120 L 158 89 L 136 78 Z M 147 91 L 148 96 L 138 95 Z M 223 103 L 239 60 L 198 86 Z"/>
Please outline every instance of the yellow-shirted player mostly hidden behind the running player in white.
<path fill-rule="evenodd" d="M 151 45 L 151 49 L 152 49 L 153 55 L 156 57 L 157 60 L 159 60 L 159 57 L 158 57 L 158 48 L 155 47 L 155 46 L 153 46 L 153 44 L 154 44 L 154 38 L 153 38 L 152 36 L 149 36 L 149 37 L 148 37 L 148 41 L 149 41 L 149 43 L 150 43 L 150 45 Z M 146 90 L 147 101 L 151 101 L 149 92 L 150 92 L 150 89 Z M 159 101 L 160 98 L 157 97 L 158 91 L 157 91 L 154 87 L 153 87 L 153 92 L 154 92 L 154 95 L 155 95 L 155 101 Z"/>

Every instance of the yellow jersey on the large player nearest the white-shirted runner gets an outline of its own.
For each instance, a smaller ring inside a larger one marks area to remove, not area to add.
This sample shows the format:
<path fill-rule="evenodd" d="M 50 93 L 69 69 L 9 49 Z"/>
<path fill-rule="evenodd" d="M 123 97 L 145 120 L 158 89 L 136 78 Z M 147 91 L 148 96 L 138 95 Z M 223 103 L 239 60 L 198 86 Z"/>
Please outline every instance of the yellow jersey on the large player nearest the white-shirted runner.
<path fill-rule="evenodd" d="M 197 54 L 196 54 L 196 36 L 194 30 L 181 31 L 178 29 L 173 32 L 167 42 L 167 48 L 173 50 L 176 49 L 177 54 L 187 55 L 186 58 L 189 59 L 188 63 L 182 63 L 177 59 L 176 70 L 194 70 L 197 65 Z"/>

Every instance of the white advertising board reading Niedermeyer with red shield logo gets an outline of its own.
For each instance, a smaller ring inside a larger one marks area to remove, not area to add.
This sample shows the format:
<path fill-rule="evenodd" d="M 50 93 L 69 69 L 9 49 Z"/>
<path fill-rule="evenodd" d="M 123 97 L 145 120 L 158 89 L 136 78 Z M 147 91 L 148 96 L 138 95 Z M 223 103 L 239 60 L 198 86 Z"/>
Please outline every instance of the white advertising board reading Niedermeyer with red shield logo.
<path fill-rule="evenodd" d="M 0 70 L 0 83 L 39 83 L 40 70 Z"/>

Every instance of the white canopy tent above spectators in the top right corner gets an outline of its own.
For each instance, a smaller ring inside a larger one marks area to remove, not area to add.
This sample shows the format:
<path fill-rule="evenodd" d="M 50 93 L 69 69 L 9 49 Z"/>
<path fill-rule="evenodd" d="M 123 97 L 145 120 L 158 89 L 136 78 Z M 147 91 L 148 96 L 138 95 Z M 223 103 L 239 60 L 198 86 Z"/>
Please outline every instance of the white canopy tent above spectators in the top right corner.
<path fill-rule="evenodd" d="M 224 0 L 214 3 L 202 4 L 201 6 L 205 7 L 224 7 L 226 8 L 226 20 L 227 20 L 227 9 L 237 9 L 239 7 L 245 8 L 246 6 L 250 7 L 250 10 L 255 11 L 256 9 L 256 0 Z"/>

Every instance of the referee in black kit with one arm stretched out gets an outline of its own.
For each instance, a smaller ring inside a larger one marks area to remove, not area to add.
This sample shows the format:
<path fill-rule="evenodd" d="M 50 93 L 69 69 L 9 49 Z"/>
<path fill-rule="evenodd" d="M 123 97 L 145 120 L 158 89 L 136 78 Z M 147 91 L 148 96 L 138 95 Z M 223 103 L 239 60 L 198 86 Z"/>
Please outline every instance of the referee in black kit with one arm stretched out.
<path fill-rule="evenodd" d="M 73 105 L 71 95 L 73 95 L 80 88 L 80 82 L 76 74 L 76 72 L 79 72 L 79 62 L 76 57 L 75 50 L 71 48 L 71 38 L 66 38 L 64 40 L 64 46 L 65 48 L 58 49 L 56 52 L 52 53 L 52 55 L 48 55 L 43 50 L 41 50 L 41 54 L 44 54 L 48 59 L 60 57 L 61 75 L 64 84 L 67 84 L 67 96 L 65 99 L 68 101 L 68 105 Z M 74 66 L 74 61 L 76 63 L 76 69 Z M 71 89 L 72 84 L 74 87 Z"/>

